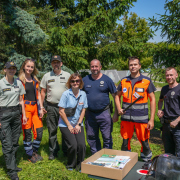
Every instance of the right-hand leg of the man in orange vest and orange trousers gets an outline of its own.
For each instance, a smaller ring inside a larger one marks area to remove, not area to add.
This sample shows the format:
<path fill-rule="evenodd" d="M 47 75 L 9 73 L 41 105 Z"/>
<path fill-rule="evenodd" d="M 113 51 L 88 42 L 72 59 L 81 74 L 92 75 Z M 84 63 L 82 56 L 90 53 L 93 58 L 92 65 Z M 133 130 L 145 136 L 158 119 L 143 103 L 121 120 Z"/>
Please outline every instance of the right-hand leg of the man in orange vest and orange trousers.
<path fill-rule="evenodd" d="M 141 158 L 143 161 L 148 161 L 152 157 L 152 151 L 149 146 L 150 131 L 147 129 L 146 123 L 134 123 L 136 135 L 141 143 Z"/>

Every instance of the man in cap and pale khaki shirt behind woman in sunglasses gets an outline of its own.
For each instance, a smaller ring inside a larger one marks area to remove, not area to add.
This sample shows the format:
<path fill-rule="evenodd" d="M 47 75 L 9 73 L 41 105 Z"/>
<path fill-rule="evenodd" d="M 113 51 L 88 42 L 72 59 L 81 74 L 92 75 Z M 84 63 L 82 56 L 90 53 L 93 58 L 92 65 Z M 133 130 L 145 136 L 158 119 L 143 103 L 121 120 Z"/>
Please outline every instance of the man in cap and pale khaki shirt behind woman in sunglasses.
<path fill-rule="evenodd" d="M 61 70 L 62 66 L 61 57 L 55 55 L 51 59 L 51 66 L 53 70 L 46 73 L 41 80 L 41 98 L 44 101 L 45 94 L 47 92 L 47 109 L 44 108 L 44 113 L 47 112 L 47 127 L 49 131 L 49 160 L 53 160 L 57 157 L 59 151 L 59 145 L 57 141 L 57 127 L 59 120 L 59 107 L 62 93 L 67 90 L 66 82 L 68 81 L 70 74 Z M 47 111 L 46 111 L 47 110 Z M 66 146 L 62 139 L 62 150 L 66 154 Z"/>

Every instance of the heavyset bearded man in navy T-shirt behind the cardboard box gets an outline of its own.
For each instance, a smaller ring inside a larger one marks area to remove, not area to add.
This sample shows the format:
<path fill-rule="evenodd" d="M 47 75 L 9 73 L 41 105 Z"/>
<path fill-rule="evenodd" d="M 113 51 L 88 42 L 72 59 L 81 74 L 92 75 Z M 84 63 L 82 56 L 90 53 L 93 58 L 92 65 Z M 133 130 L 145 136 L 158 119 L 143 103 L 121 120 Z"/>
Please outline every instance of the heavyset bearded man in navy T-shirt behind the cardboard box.
<path fill-rule="evenodd" d="M 85 114 L 85 126 L 87 141 L 90 145 L 91 153 L 101 150 L 99 130 L 103 137 L 103 148 L 112 149 L 112 128 L 113 121 L 110 114 L 109 93 L 115 96 L 116 87 L 108 76 L 101 73 L 101 63 L 94 59 L 90 63 L 91 73 L 83 78 L 84 91 L 87 94 L 88 109 Z M 113 116 L 117 119 L 117 115 Z"/>

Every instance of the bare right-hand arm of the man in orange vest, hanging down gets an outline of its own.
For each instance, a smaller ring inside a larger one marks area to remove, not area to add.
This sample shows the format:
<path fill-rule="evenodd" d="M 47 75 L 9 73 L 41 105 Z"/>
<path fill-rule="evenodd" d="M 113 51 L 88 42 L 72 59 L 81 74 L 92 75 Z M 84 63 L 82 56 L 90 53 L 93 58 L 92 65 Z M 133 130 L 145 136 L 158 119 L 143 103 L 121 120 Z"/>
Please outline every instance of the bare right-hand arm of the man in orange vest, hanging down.
<path fill-rule="evenodd" d="M 150 99 L 151 117 L 150 120 L 148 121 L 147 129 L 152 130 L 154 128 L 154 115 L 156 111 L 156 100 L 155 100 L 154 92 L 151 92 L 149 94 L 149 99 Z"/>

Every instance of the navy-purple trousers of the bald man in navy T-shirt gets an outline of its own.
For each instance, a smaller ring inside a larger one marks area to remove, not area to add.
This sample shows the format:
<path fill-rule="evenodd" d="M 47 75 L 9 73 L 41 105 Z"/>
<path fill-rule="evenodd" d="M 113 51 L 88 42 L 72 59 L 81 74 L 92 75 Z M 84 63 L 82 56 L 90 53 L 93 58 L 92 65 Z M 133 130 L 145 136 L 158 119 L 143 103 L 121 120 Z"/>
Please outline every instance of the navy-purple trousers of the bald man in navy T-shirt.
<path fill-rule="evenodd" d="M 101 150 L 99 130 L 101 131 L 103 138 L 103 148 L 112 149 L 113 142 L 111 133 L 113 129 L 113 122 L 109 109 L 101 113 L 94 113 L 86 110 L 85 118 L 87 142 L 90 146 L 91 153 L 94 154 Z"/>

